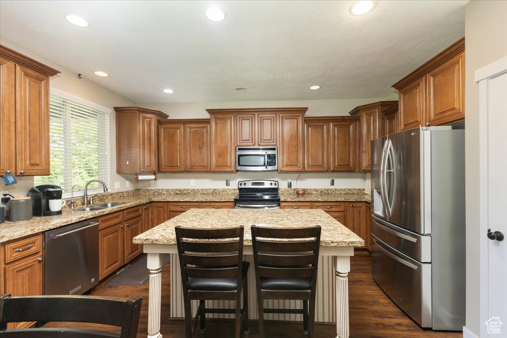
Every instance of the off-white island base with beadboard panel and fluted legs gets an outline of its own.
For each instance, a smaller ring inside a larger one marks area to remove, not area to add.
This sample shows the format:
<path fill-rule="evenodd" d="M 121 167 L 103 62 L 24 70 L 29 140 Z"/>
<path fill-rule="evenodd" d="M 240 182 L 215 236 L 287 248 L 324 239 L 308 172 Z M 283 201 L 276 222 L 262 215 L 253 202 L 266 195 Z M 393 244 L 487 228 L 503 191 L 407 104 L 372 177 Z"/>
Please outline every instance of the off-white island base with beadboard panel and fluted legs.
<path fill-rule="evenodd" d="M 150 269 L 150 293 L 148 310 L 148 338 L 160 338 L 160 307 L 161 307 L 161 268 L 165 253 L 170 253 L 170 317 L 183 318 L 183 289 L 179 269 L 176 246 L 160 244 L 144 244 L 144 252 L 148 253 L 148 269 Z M 243 259 L 250 262 L 248 269 L 248 318 L 258 319 L 257 290 L 255 268 L 251 246 L 244 247 Z M 320 258 L 317 275 L 315 321 L 336 323 L 337 338 L 349 337 L 348 315 L 348 272 L 350 271 L 350 256 L 354 254 L 353 247 L 320 247 Z M 267 308 L 301 309 L 301 301 L 265 300 Z M 234 308 L 234 301 L 206 301 L 206 306 L 212 308 Z M 195 312 L 198 302 L 192 303 Z M 234 318 L 232 314 L 208 314 L 208 318 Z M 267 320 L 300 321 L 298 314 L 265 314 Z M 330 337 L 331 338 L 331 337 Z"/>

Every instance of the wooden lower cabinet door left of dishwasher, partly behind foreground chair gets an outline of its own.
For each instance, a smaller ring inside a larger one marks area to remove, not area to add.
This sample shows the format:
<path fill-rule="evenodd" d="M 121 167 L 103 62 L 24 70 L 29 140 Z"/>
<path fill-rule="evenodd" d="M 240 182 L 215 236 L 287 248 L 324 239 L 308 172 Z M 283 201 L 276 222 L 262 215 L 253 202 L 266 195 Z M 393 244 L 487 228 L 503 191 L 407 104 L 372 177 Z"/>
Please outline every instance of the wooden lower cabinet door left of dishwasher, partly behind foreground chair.
<path fill-rule="evenodd" d="M 5 268 L 5 293 L 12 296 L 42 295 L 42 257 L 31 256 Z M 8 328 L 23 328 L 31 322 L 10 323 Z"/>

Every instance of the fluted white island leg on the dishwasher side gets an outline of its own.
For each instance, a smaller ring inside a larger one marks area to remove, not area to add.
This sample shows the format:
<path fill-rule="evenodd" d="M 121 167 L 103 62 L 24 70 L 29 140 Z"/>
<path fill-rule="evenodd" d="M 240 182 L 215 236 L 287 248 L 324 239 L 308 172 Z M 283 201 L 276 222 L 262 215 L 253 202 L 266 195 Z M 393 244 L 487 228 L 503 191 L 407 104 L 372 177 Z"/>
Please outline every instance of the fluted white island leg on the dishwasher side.
<path fill-rule="evenodd" d="M 148 253 L 150 270 L 150 295 L 148 297 L 148 338 L 162 338 L 160 333 L 160 311 L 162 302 L 162 267 L 165 254 Z"/>

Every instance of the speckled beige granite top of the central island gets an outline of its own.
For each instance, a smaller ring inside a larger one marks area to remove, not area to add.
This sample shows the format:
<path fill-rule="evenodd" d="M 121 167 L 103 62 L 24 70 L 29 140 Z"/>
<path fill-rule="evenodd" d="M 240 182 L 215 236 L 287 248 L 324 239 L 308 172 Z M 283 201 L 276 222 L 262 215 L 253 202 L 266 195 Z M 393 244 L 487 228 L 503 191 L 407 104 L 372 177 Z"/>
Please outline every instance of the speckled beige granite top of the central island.
<path fill-rule="evenodd" d="M 174 227 L 229 228 L 244 226 L 244 245 L 251 245 L 252 224 L 271 227 L 322 227 L 322 246 L 364 246 L 365 241 L 320 209 L 238 210 L 191 209 L 136 237 L 138 244 L 176 244 Z"/>

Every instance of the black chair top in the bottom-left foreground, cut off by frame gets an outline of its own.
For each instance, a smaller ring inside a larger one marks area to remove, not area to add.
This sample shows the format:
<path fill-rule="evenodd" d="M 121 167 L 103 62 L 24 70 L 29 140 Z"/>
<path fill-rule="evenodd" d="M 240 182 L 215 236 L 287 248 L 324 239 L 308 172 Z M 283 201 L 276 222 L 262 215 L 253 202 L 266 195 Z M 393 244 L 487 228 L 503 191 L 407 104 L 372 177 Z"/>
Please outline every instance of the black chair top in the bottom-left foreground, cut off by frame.
<path fill-rule="evenodd" d="M 128 300 L 95 296 L 26 296 L 0 298 L 2 338 L 135 338 L 141 297 Z M 72 327 L 7 329 L 12 322 L 83 322 L 121 327 L 120 333 Z"/>

